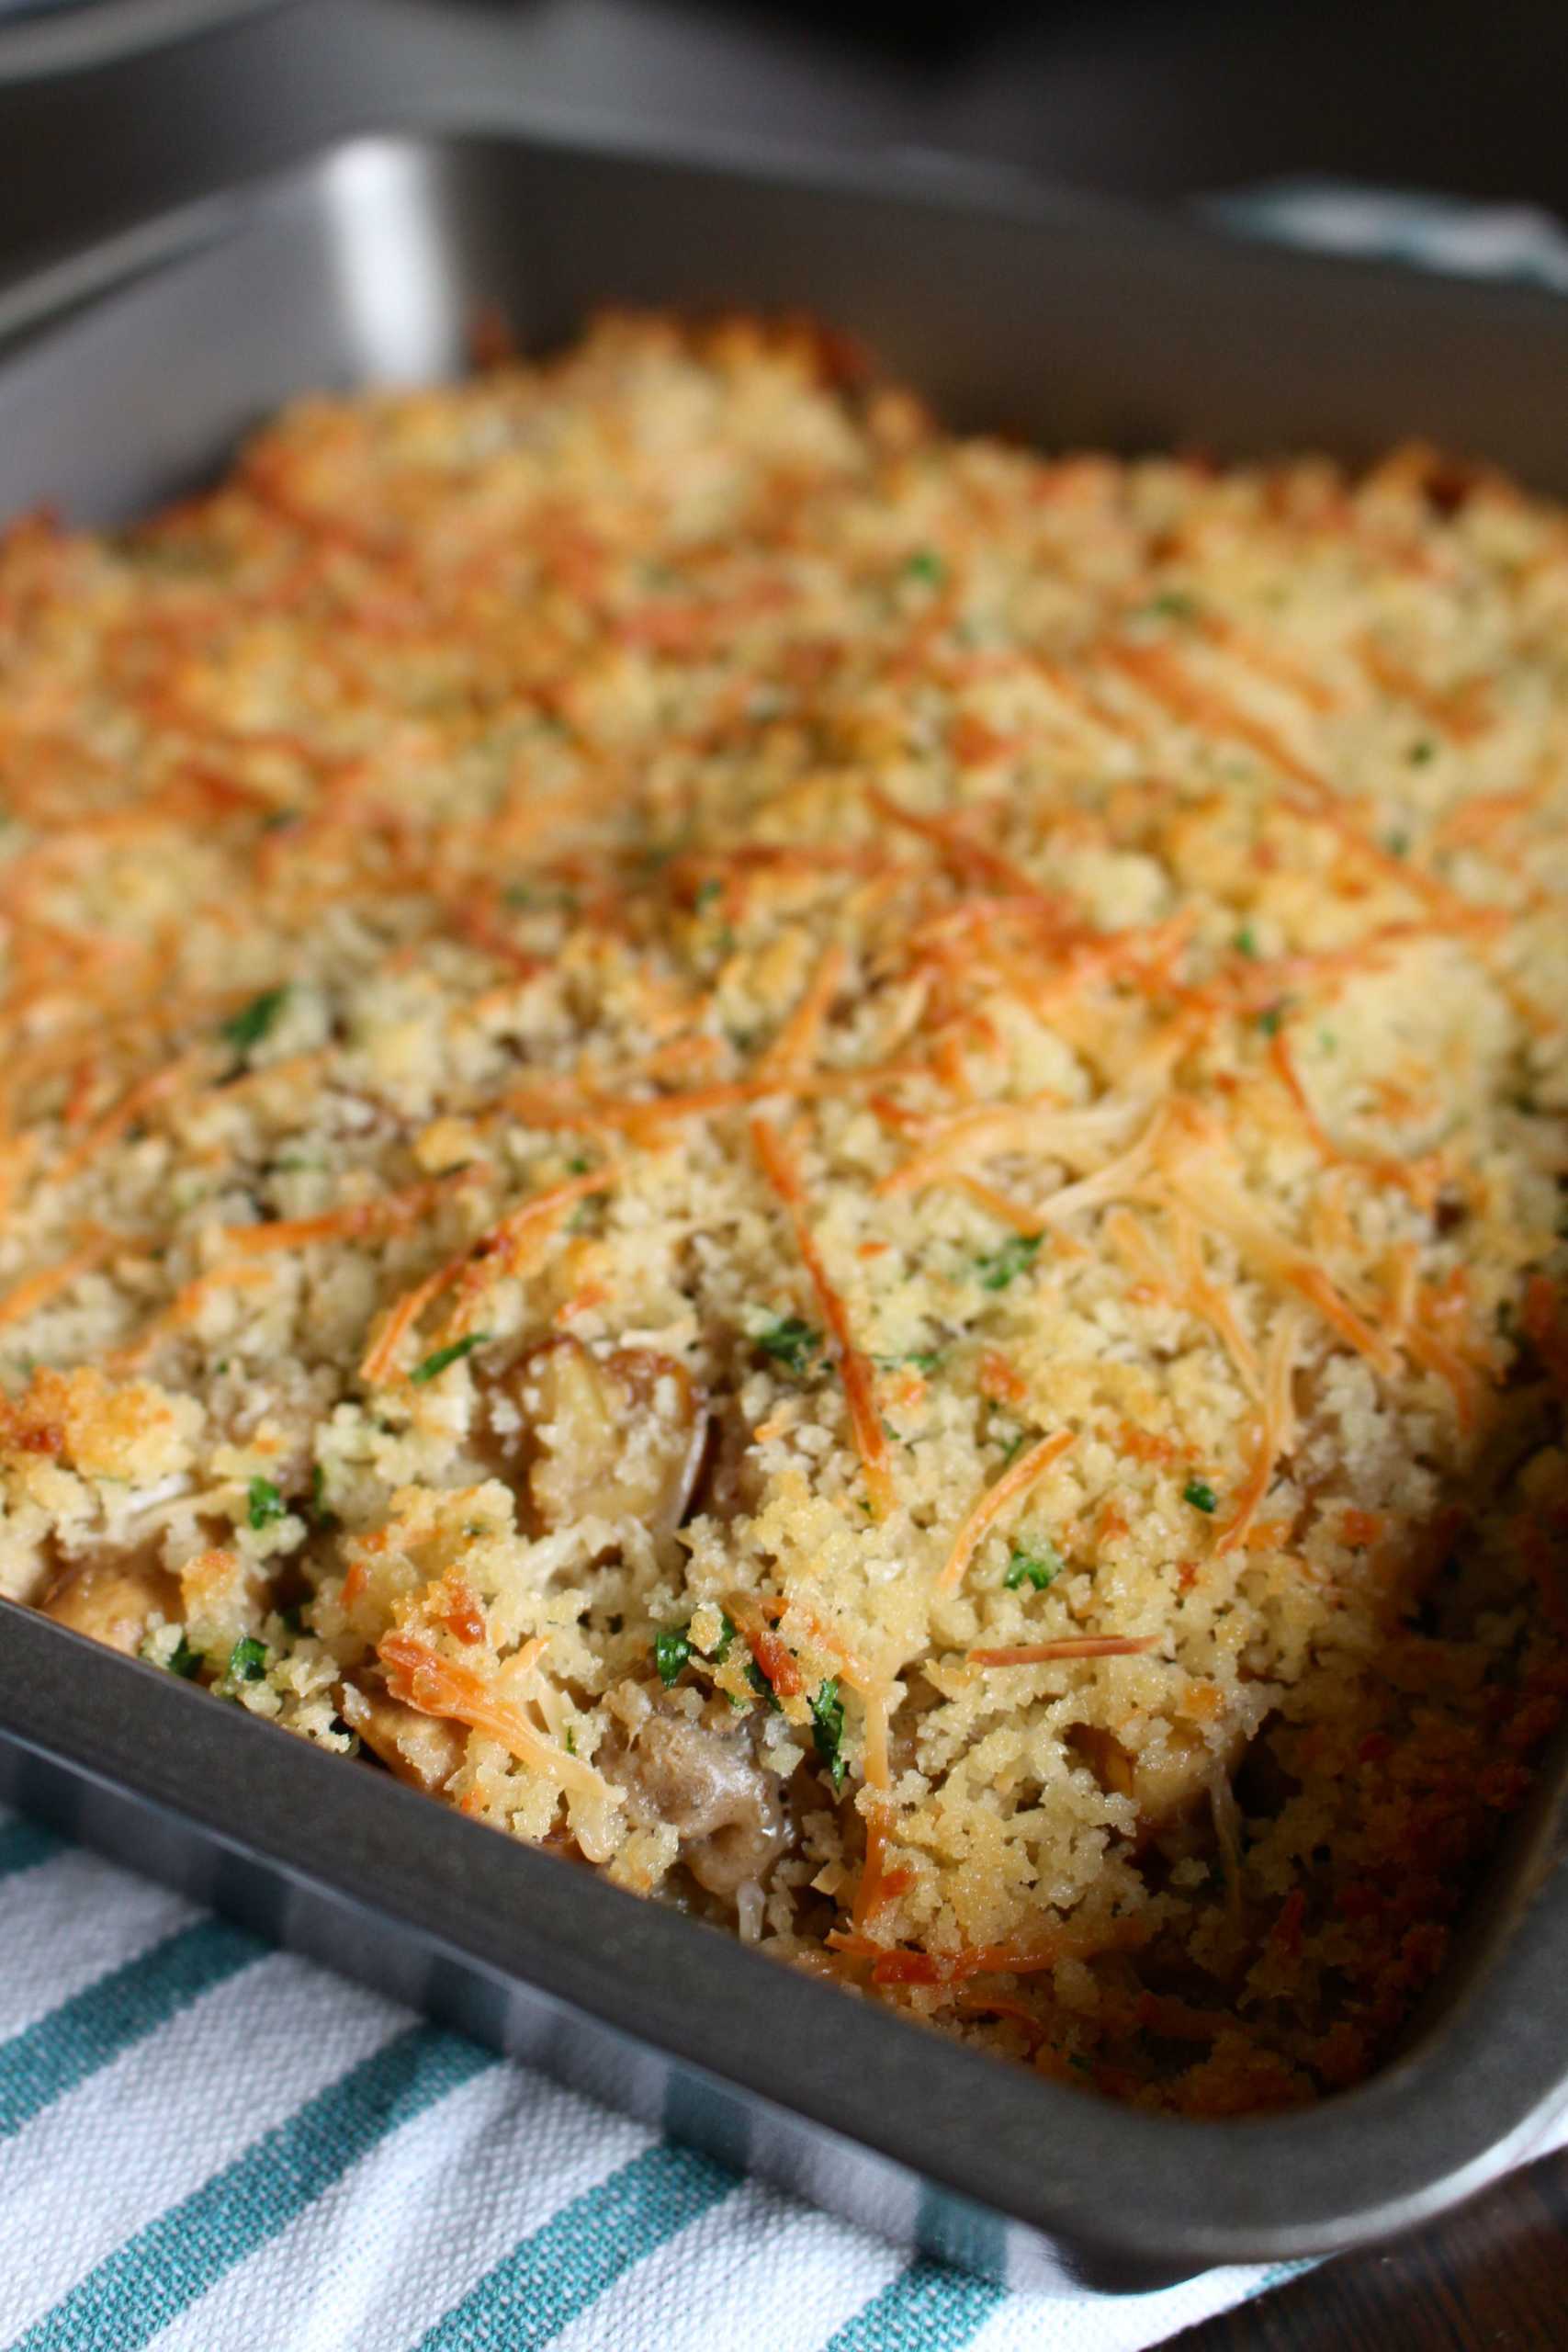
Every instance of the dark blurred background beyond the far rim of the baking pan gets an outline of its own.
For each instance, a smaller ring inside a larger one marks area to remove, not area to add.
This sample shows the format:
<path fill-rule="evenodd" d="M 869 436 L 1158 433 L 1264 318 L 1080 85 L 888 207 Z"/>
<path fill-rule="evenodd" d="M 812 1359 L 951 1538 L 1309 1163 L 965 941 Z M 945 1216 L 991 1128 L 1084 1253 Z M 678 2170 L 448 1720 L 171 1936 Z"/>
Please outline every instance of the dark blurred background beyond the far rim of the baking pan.
<path fill-rule="evenodd" d="M 917 148 L 1171 202 L 1274 179 L 1568 214 L 1563 0 L 0 0 L 0 270 L 346 129 Z"/>

